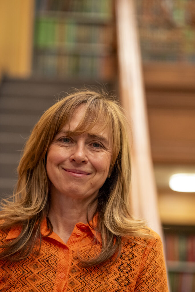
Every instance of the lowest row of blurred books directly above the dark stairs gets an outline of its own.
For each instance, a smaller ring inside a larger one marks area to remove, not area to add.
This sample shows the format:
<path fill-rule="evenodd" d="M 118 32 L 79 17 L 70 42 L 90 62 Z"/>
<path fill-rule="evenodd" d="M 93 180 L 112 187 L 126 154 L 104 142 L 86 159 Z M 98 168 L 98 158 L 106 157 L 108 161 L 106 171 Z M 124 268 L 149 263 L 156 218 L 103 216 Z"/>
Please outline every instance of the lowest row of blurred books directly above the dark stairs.
<path fill-rule="evenodd" d="M 112 56 L 34 54 L 34 74 L 61 79 L 109 79 L 114 73 Z"/>

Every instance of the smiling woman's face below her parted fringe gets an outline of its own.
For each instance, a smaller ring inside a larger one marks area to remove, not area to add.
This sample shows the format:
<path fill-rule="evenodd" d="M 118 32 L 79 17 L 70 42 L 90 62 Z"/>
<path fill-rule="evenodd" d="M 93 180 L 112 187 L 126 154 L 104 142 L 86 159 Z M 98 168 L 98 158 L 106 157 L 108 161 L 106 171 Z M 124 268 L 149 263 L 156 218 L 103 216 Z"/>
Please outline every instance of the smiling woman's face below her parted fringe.
<path fill-rule="evenodd" d="M 85 106 L 75 111 L 69 124 L 48 148 L 46 169 L 51 194 L 63 194 L 73 199 L 95 197 L 110 174 L 112 143 L 109 129 L 101 131 L 101 125 L 97 124 L 89 133 L 73 135 L 84 111 Z"/>

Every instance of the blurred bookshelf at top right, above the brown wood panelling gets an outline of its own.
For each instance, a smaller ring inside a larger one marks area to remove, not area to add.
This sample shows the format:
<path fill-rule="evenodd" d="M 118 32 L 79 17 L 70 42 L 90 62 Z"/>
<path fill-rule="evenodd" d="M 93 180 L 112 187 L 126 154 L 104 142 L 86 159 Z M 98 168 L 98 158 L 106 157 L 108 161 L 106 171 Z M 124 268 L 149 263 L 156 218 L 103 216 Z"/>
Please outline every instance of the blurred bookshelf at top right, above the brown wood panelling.
<path fill-rule="evenodd" d="M 144 62 L 195 63 L 193 0 L 136 0 Z"/>

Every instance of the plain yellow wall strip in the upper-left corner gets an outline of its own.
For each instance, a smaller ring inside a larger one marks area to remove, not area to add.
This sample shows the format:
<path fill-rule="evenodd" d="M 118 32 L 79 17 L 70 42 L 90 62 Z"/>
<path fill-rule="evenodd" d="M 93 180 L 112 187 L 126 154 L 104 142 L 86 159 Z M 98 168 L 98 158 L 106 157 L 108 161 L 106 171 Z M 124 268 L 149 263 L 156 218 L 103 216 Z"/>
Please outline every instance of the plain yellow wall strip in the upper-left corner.
<path fill-rule="evenodd" d="M 0 0 L 0 73 L 31 72 L 34 0 Z"/>

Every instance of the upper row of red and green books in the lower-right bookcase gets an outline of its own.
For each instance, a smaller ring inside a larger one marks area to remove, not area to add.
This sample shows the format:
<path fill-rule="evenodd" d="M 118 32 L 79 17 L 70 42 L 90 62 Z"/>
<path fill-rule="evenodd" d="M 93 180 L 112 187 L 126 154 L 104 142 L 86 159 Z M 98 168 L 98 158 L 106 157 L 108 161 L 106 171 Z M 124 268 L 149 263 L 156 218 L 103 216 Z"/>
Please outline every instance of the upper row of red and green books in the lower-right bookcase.
<path fill-rule="evenodd" d="M 195 262 L 195 235 L 165 234 L 167 260 Z"/>

